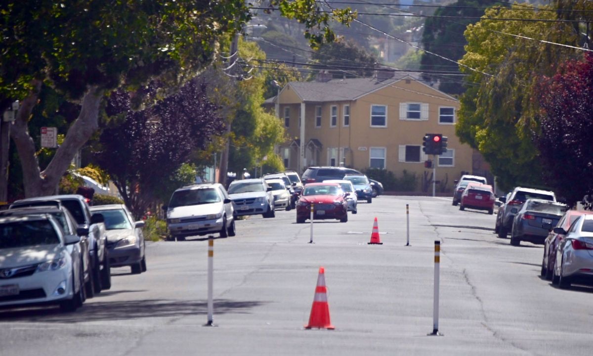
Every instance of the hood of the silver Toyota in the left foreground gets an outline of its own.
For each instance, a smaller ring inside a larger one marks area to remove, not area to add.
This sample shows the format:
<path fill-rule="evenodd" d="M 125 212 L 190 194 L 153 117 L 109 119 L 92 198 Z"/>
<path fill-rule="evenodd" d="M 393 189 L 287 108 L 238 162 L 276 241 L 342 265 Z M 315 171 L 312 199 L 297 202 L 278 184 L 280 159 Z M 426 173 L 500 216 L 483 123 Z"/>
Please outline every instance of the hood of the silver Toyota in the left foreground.
<path fill-rule="evenodd" d="M 15 247 L 0 250 L 0 268 L 35 265 L 60 257 L 64 247 L 59 244 Z"/>

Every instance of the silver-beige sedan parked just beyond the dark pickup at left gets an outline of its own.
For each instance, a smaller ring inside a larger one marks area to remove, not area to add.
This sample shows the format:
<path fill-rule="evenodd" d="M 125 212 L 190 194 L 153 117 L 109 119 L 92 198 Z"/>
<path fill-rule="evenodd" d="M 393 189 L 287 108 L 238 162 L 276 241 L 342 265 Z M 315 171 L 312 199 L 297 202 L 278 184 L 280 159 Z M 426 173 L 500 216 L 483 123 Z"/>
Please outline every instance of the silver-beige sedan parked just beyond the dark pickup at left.
<path fill-rule="evenodd" d="M 132 274 L 146 272 L 144 221 L 134 221 L 123 204 L 91 206 L 91 212 L 103 215 L 107 230 L 107 249 L 111 267 L 130 266 Z"/>

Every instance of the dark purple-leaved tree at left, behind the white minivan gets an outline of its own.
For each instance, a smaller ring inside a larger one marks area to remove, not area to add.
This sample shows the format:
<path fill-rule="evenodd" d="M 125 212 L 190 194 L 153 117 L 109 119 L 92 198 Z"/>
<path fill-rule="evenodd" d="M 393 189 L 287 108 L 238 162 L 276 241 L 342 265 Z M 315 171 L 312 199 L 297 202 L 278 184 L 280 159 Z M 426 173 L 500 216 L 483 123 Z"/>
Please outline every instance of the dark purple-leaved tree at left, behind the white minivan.
<path fill-rule="evenodd" d="M 145 96 L 147 101 L 158 97 L 156 83 L 149 85 Z M 224 122 L 216 109 L 198 78 L 144 110 L 133 110 L 132 97 L 124 90 L 111 94 L 106 106 L 108 124 L 94 158 L 136 217 L 155 198 L 162 199 L 162 187 L 178 180 L 178 170 L 189 163 L 194 151 L 205 149 L 214 136 L 222 134 Z"/>

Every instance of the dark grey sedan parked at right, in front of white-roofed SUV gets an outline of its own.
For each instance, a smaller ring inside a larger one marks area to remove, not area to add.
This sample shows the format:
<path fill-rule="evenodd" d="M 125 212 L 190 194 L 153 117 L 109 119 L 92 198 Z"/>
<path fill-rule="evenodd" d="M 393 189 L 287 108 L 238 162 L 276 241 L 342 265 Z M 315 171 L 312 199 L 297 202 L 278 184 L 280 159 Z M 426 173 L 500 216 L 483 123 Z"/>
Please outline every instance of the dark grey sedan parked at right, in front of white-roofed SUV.
<path fill-rule="evenodd" d="M 553 226 L 558 224 L 566 211 L 566 205 L 544 199 L 527 199 L 521 208 L 512 208 L 515 217 L 511 229 L 511 244 L 521 241 L 543 244 Z"/>

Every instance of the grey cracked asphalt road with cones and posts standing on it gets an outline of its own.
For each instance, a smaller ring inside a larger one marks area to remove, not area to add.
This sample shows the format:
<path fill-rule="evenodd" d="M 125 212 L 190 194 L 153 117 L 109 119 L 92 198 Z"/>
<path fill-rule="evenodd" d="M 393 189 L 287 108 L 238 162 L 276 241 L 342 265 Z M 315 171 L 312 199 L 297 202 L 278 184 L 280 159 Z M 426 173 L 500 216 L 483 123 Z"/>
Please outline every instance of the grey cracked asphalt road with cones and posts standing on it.
<path fill-rule="evenodd" d="M 406 244 L 406 204 L 410 244 Z M 296 224 L 294 211 L 237 222 L 214 242 L 214 323 L 206 323 L 205 241 L 147 246 L 148 272 L 75 313 L 0 310 L 0 355 L 585 355 L 593 288 L 539 277 L 541 246 L 493 233 L 496 215 L 447 198 L 380 196 L 349 221 Z M 367 244 L 378 218 L 382 245 Z M 439 332 L 432 332 L 434 240 Z M 325 268 L 335 330 L 305 330 Z"/>

